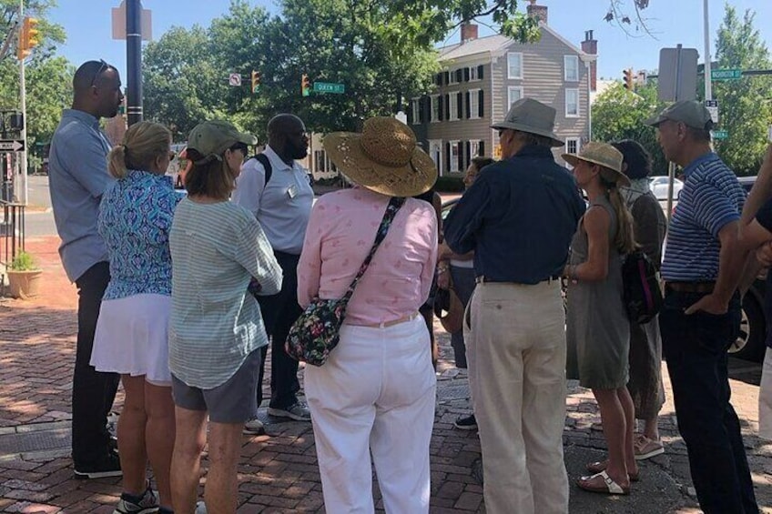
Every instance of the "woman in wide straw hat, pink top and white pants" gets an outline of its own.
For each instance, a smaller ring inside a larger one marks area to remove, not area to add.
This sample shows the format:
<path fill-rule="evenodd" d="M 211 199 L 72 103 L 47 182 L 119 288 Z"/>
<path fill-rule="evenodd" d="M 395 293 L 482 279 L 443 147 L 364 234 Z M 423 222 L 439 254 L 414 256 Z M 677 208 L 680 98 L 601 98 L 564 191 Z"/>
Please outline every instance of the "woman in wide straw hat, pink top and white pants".
<path fill-rule="evenodd" d="M 320 197 L 298 265 L 298 301 L 340 298 L 371 250 L 391 197 L 406 197 L 350 298 L 340 343 L 306 367 L 328 512 L 372 512 L 371 455 L 387 512 L 429 511 L 429 441 L 436 380 L 419 307 L 437 256 L 432 206 L 411 198 L 437 178 L 411 129 L 374 117 L 361 134 L 324 138 L 354 187 Z"/>

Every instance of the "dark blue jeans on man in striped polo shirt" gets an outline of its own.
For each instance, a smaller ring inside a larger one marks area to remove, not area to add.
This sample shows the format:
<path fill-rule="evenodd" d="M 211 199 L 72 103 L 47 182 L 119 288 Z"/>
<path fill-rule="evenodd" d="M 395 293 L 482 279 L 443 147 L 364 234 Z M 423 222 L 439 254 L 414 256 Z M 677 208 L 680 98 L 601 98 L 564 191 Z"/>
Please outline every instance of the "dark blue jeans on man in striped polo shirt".
<path fill-rule="evenodd" d="M 678 430 L 686 442 L 697 499 L 706 514 L 758 512 L 740 424 L 729 403 L 726 349 L 737 337 L 740 300 L 726 314 L 684 314 L 702 293 L 669 290 L 659 314 Z"/>

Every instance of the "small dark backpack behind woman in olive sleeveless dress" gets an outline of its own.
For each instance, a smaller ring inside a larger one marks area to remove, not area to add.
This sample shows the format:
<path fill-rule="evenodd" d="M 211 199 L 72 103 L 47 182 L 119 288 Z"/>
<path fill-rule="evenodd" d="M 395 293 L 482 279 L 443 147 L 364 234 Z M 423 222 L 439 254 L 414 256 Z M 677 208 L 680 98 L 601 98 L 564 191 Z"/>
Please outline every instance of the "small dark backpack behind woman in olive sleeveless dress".
<path fill-rule="evenodd" d="M 662 289 L 654 263 L 640 249 L 622 263 L 622 287 L 627 316 L 637 324 L 648 323 L 662 307 Z"/>

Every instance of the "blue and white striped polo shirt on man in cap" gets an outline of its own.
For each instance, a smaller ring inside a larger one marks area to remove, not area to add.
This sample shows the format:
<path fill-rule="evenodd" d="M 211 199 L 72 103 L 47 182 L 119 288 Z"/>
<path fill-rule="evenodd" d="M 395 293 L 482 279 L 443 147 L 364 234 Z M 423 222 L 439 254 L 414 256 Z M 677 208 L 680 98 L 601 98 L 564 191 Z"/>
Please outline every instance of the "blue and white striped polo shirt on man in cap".
<path fill-rule="evenodd" d="M 740 218 L 746 192 L 713 152 L 684 169 L 684 188 L 667 230 L 662 277 L 669 282 L 701 282 L 718 277 L 718 232 Z"/>

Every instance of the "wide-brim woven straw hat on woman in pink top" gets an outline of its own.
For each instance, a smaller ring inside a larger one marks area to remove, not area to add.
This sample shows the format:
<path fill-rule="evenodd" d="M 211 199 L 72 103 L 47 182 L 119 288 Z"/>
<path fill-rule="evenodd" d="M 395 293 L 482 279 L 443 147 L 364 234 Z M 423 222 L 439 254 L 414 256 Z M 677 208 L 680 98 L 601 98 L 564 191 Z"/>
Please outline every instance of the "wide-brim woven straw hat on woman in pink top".
<path fill-rule="evenodd" d="M 415 197 L 437 181 L 432 157 L 417 146 L 411 128 L 393 117 L 371 117 L 361 134 L 332 132 L 322 145 L 343 175 L 381 195 Z"/>

